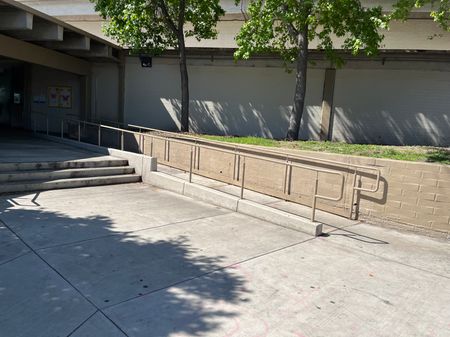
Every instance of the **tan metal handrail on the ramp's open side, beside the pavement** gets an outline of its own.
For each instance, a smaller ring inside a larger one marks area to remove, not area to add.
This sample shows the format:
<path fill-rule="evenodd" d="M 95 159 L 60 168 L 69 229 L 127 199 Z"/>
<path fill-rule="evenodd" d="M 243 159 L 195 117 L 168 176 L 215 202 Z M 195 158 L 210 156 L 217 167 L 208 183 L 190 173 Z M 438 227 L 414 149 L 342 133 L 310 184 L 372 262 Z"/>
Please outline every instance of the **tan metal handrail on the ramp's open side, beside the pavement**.
<path fill-rule="evenodd" d="M 77 119 L 73 119 L 73 118 L 58 118 L 61 121 L 61 138 L 64 138 L 64 122 L 68 121 L 68 122 L 75 122 L 78 124 L 78 141 L 81 142 L 81 124 L 83 125 L 92 125 L 98 128 L 98 145 L 101 146 L 101 129 L 105 128 L 105 129 L 110 129 L 110 130 L 115 130 L 120 132 L 121 135 L 121 149 L 124 149 L 124 141 L 123 141 L 123 136 L 124 133 L 128 133 L 128 134 L 133 134 L 133 135 L 138 135 L 139 136 L 139 140 L 141 140 L 141 137 L 144 139 L 146 137 L 149 137 L 152 139 L 152 145 L 153 145 L 153 139 L 162 139 L 166 142 L 175 142 L 175 143 L 180 143 L 180 144 L 184 144 L 184 145 L 188 145 L 191 147 L 191 152 L 190 152 L 190 163 L 189 163 L 189 182 L 192 182 L 192 171 L 193 171 L 193 157 L 194 157 L 194 147 L 197 148 L 203 148 L 203 149 L 210 149 L 210 150 L 214 150 L 214 151 L 218 151 L 218 152 L 222 152 L 222 153 L 229 153 L 229 154 L 233 154 L 233 155 L 238 155 L 239 158 L 243 158 L 243 164 L 242 164 L 242 176 L 239 177 L 238 176 L 238 180 L 239 178 L 241 179 L 241 199 L 244 198 L 244 189 L 245 189 L 245 171 L 246 171 L 246 163 L 245 163 L 245 159 L 246 158 L 252 158 L 252 159 L 257 159 L 257 160 L 263 160 L 266 162 L 271 162 L 271 163 L 275 163 L 275 164 L 281 164 L 281 165 L 286 165 L 286 167 L 290 167 L 292 170 L 292 167 L 297 167 L 297 168 L 301 168 L 301 169 L 306 169 L 306 170 L 310 170 L 310 171 L 314 171 L 316 172 L 316 178 L 315 178 L 315 184 L 314 184 L 314 192 L 313 192 L 313 196 L 312 196 L 312 213 L 311 213 L 311 221 L 315 222 L 315 214 L 316 214 L 316 206 L 317 206 L 317 199 L 323 199 L 323 200 L 329 200 L 329 201 L 340 201 L 343 198 L 344 195 L 344 183 L 345 183 L 345 176 L 342 172 L 337 172 L 337 171 L 333 171 L 333 170 L 329 170 L 329 169 L 322 169 L 322 168 L 316 168 L 310 165 L 304 165 L 304 164 L 299 164 L 299 163 L 295 163 L 292 161 L 282 161 L 279 159 L 274 159 L 274 158 L 266 158 L 263 156 L 259 156 L 259 155 L 254 155 L 254 154 L 248 154 L 248 153 L 241 153 L 238 151 L 231 151 L 231 150 L 226 150 L 226 149 L 222 149 L 222 148 L 217 148 L 217 147 L 213 147 L 213 146 L 209 146 L 209 145 L 204 145 L 204 144 L 195 144 L 193 145 L 192 142 L 186 141 L 186 140 L 180 140 L 180 139 L 173 139 L 173 138 L 169 138 L 169 137 L 164 137 L 164 136 L 159 136 L 159 135 L 152 135 L 152 134 L 146 134 L 146 133 L 142 133 L 142 132 L 136 132 L 136 131 L 131 131 L 131 130 L 126 130 L 126 129 L 122 129 L 122 128 L 117 128 L 117 127 L 113 127 L 113 126 L 108 126 L 108 125 L 102 125 L 102 124 L 98 124 L 98 123 L 94 123 L 94 122 L 87 122 L 87 121 L 80 121 Z M 46 133 L 47 135 L 49 134 L 49 123 L 48 123 L 48 115 L 46 116 Z M 36 123 L 34 124 L 34 132 L 37 132 L 36 130 Z M 139 150 L 141 151 L 141 148 L 139 146 Z M 151 151 L 153 150 L 153 146 Z M 143 152 L 143 151 L 142 151 Z M 151 155 L 152 152 L 151 152 Z M 169 162 L 169 160 L 167 160 L 167 162 Z M 170 166 L 170 162 L 169 162 L 169 166 Z M 338 196 L 326 196 L 326 195 L 320 195 L 318 194 L 318 187 L 319 187 L 319 173 L 325 173 L 325 174 L 331 174 L 331 175 L 335 175 L 340 177 L 340 192 Z M 289 180 L 289 186 L 291 184 L 291 181 Z M 285 181 L 285 186 L 286 186 L 286 181 Z"/>

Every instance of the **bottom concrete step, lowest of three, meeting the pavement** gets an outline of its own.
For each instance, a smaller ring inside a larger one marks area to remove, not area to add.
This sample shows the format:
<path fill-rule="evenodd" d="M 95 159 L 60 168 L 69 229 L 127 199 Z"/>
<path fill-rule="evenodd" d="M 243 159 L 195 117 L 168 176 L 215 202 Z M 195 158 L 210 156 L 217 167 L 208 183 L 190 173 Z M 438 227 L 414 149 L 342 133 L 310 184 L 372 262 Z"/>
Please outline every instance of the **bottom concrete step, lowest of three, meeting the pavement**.
<path fill-rule="evenodd" d="M 141 176 L 137 174 L 122 174 L 101 177 L 85 177 L 72 179 L 56 179 L 29 182 L 8 182 L 0 184 L 0 194 L 13 192 L 31 192 L 42 190 L 53 190 L 63 188 L 127 184 L 141 181 Z"/>

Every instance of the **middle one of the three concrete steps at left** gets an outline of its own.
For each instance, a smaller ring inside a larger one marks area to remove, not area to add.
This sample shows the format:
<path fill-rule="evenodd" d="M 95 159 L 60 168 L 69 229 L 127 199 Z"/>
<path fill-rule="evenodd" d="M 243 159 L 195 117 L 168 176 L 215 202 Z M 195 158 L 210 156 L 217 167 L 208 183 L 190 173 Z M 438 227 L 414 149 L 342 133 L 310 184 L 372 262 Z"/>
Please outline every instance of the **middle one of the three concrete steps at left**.
<path fill-rule="evenodd" d="M 33 180 L 56 180 L 83 177 L 114 176 L 120 174 L 132 174 L 134 168 L 130 166 L 76 168 L 63 170 L 32 170 L 0 172 L 0 183 L 29 182 Z"/>

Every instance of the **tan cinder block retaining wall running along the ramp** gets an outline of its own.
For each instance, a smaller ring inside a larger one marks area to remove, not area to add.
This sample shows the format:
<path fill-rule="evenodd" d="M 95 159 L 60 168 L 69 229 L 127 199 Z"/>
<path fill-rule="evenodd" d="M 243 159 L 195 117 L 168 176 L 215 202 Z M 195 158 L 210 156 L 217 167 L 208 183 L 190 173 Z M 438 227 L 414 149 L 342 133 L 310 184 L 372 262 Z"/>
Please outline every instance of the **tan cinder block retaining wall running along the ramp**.
<path fill-rule="evenodd" d="M 153 143 L 153 144 L 152 144 Z M 158 158 L 162 164 L 188 171 L 192 145 L 146 137 L 144 152 Z M 352 202 L 354 171 L 351 166 L 364 165 L 378 168 L 381 172 L 379 189 L 375 193 L 355 193 L 354 205 L 360 219 L 377 222 L 390 221 L 414 227 L 450 234 L 450 166 L 416 163 L 388 159 L 375 159 L 309 151 L 288 151 L 318 159 L 314 167 L 331 169 L 344 175 L 344 195 L 338 202 L 319 200 L 318 209 L 348 217 Z M 321 162 L 320 159 L 334 160 L 343 165 Z M 193 171 L 209 178 L 240 185 L 237 175 L 241 174 L 240 162 L 232 153 L 214 149 L 201 149 L 193 153 Z M 299 160 L 299 164 L 312 164 Z M 239 167 L 239 169 L 238 169 Z M 316 173 L 309 169 L 293 168 L 289 192 L 285 187 L 284 164 L 246 159 L 245 187 L 268 195 L 276 196 L 299 204 L 311 206 Z M 319 173 L 319 194 L 337 196 L 340 191 L 339 177 Z M 375 176 L 361 173 L 361 187 L 375 187 Z"/>

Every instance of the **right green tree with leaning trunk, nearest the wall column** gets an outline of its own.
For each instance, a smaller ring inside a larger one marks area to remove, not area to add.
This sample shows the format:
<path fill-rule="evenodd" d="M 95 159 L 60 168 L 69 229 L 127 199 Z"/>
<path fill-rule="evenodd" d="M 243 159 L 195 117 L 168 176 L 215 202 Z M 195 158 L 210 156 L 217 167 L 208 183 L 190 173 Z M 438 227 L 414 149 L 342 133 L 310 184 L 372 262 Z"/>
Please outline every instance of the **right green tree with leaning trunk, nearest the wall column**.
<path fill-rule="evenodd" d="M 238 5 L 242 0 L 237 0 Z M 381 6 L 365 7 L 360 0 L 249 0 L 248 19 L 236 37 L 236 59 L 256 53 L 277 53 L 286 65 L 296 62 L 296 89 L 286 138 L 298 139 L 306 94 L 308 45 L 318 49 L 336 66 L 342 59 L 333 39 L 343 40 L 341 49 L 356 55 L 377 54 L 383 29 L 391 20 L 406 20 L 414 8 L 433 6 L 431 17 L 449 31 L 450 0 L 395 0 L 387 13 Z"/>

